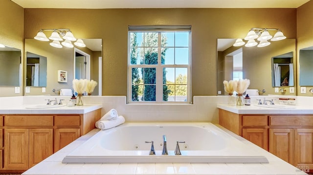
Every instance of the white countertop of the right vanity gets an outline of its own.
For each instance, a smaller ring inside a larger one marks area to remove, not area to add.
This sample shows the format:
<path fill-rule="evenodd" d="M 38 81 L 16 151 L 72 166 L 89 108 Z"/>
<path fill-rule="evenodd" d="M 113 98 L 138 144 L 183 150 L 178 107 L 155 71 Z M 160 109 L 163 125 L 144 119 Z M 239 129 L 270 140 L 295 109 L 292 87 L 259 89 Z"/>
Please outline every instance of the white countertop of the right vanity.
<path fill-rule="evenodd" d="M 256 105 L 228 105 L 218 104 L 218 108 L 236 114 L 313 114 L 313 106 L 293 106 L 294 109 L 277 109 L 277 108 L 266 108 L 259 107 Z"/>

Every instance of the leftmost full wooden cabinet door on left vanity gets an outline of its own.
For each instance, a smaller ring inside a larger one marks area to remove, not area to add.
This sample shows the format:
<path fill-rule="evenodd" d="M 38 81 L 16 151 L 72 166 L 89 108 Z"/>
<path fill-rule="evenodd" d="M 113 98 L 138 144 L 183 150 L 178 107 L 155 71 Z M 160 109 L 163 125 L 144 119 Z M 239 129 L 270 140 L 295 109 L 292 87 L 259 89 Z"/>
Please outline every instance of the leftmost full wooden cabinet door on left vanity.
<path fill-rule="evenodd" d="M 28 169 L 28 129 L 4 129 L 4 168 Z"/>

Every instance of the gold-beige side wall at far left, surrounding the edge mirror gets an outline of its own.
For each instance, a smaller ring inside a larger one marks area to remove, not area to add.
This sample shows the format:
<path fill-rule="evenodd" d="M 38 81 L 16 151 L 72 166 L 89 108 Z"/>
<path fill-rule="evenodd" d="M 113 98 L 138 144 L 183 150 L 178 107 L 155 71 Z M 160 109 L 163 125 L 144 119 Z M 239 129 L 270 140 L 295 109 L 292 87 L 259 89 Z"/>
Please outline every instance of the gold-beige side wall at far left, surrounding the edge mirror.
<path fill-rule="evenodd" d="M 0 43 L 21 49 L 23 52 L 24 9 L 11 0 L 1 0 L 0 5 Z M 23 54 L 22 54 L 23 64 Z M 15 94 L 14 87 L 0 86 L 0 97 L 21 96 Z"/>

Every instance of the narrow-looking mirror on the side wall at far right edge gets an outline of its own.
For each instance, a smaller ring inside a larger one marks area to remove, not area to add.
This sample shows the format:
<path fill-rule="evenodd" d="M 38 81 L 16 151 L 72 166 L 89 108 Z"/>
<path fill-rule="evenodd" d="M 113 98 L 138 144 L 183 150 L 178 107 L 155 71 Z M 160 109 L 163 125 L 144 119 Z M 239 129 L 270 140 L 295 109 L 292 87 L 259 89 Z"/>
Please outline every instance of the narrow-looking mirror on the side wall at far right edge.
<path fill-rule="evenodd" d="M 300 49 L 299 52 L 299 85 L 313 86 L 313 46 Z"/>

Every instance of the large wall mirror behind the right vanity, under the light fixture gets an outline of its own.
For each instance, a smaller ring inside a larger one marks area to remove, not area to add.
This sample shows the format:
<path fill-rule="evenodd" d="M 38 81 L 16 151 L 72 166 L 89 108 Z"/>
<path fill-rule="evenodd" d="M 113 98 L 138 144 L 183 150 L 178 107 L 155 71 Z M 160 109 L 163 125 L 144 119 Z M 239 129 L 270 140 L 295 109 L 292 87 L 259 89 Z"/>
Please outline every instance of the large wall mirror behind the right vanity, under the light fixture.
<path fill-rule="evenodd" d="M 223 81 L 236 78 L 250 79 L 249 89 L 264 89 L 266 93 L 263 95 L 275 94 L 272 85 L 272 59 L 291 54 L 292 58 L 289 58 L 289 60 L 292 60 L 290 63 L 294 63 L 295 39 L 271 41 L 269 46 L 261 48 L 256 46 L 234 47 L 232 45 L 235 41 L 236 39 L 217 39 L 217 94 L 226 95 Z M 295 65 L 288 63 L 288 68 L 290 66 L 294 70 Z M 288 86 L 294 85 L 294 71 L 291 74 L 293 75 L 293 80 L 288 77 Z"/>

